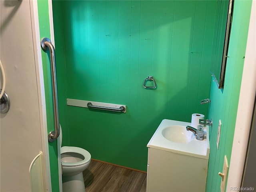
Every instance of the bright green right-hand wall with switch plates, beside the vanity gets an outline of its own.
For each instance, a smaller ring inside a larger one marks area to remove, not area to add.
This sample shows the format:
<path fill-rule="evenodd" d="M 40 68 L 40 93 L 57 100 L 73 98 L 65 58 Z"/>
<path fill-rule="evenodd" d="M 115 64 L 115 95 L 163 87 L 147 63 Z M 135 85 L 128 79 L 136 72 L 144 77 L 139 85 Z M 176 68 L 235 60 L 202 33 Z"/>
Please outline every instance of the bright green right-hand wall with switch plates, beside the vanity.
<path fill-rule="evenodd" d="M 230 164 L 251 4 L 252 1 L 234 1 L 224 89 L 218 89 L 215 82 L 211 85 L 208 118 L 212 118 L 213 126 L 210 130 L 210 159 L 206 183 L 208 192 L 220 191 L 221 177 L 218 176 L 218 172 L 222 172 L 225 155 Z M 222 126 L 219 149 L 217 149 L 219 120 Z"/>

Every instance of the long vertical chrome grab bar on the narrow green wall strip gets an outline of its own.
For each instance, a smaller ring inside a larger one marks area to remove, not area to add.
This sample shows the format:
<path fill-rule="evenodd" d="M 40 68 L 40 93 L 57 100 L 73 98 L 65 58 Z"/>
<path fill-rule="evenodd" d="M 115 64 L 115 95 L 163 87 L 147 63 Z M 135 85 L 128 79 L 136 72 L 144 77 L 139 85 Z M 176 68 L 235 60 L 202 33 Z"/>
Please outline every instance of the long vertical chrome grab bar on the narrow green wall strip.
<path fill-rule="evenodd" d="M 58 111 L 58 96 L 57 96 L 57 84 L 56 84 L 56 66 L 55 66 L 55 49 L 49 38 L 41 39 L 41 47 L 44 51 L 50 50 L 51 60 L 51 73 L 52 73 L 52 96 L 53 96 L 53 109 L 54 109 L 54 131 L 48 134 L 48 141 L 54 142 L 60 135 L 60 120 Z"/>

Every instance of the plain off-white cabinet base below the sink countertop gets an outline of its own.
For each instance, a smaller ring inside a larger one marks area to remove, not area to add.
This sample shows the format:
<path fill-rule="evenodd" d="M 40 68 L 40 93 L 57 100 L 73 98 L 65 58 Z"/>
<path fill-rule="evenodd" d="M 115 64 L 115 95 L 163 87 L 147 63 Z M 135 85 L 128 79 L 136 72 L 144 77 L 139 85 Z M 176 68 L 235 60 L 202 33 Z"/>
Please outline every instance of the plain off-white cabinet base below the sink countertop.
<path fill-rule="evenodd" d="M 147 192 L 205 192 L 208 159 L 148 148 Z"/>

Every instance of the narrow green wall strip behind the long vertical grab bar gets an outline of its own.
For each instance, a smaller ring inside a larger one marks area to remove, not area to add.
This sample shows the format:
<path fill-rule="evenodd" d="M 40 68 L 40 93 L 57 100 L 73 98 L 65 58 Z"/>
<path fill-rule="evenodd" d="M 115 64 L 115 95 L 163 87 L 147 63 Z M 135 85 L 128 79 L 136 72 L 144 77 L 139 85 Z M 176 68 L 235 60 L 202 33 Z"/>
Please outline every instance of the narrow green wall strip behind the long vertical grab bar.
<path fill-rule="evenodd" d="M 38 18 L 40 39 L 44 37 L 51 38 L 50 36 L 50 21 L 48 1 L 38 0 Z M 38 41 L 40 41 L 38 39 Z M 48 132 L 54 130 L 54 112 L 53 112 L 53 100 L 52 100 L 52 81 L 51 81 L 51 68 L 50 68 L 50 55 L 49 51 L 42 52 L 42 65 L 44 72 L 44 91 L 46 102 L 46 116 L 47 116 L 47 130 Z M 52 192 L 60 191 L 59 188 L 59 175 L 58 175 L 58 158 L 57 158 L 57 142 L 48 143 L 49 145 L 49 158 L 50 158 L 50 174 L 52 182 Z"/>

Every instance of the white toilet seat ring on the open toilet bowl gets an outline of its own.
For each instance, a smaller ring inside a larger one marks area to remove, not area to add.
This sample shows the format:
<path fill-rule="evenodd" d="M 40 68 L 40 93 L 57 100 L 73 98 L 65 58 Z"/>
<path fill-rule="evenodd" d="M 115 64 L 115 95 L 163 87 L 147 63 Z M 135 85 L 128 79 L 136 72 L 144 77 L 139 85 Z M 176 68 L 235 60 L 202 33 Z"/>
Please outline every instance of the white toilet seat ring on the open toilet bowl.
<path fill-rule="evenodd" d="M 90 162 L 91 160 L 91 154 L 85 149 L 82 149 L 79 147 L 72 147 L 72 146 L 63 146 L 60 148 L 60 154 L 68 153 L 68 152 L 80 154 L 84 157 L 84 160 L 79 162 L 62 162 L 62 166 L 64 167 L 80 166 Z"/>

